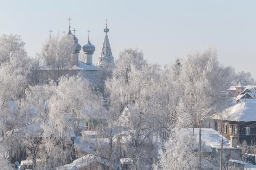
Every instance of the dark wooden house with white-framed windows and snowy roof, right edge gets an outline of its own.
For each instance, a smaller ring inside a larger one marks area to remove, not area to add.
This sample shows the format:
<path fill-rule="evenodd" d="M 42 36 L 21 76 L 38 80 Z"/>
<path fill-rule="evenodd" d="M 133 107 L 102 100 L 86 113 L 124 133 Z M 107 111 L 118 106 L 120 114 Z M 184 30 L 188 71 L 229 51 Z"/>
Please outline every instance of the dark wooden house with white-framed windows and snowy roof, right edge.
<path fill-rule="evenodd" d="M 251 145 L 251 140 L 256 140 L 256 99 L 250 102 L 240 102 L 235 106 L 213 115 L 215 130 L 223 136 L 234 136 L 239 143 L 246 141 Z M 225 123 L 228 125 L 224 128 Z"/>

